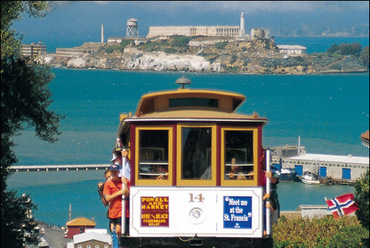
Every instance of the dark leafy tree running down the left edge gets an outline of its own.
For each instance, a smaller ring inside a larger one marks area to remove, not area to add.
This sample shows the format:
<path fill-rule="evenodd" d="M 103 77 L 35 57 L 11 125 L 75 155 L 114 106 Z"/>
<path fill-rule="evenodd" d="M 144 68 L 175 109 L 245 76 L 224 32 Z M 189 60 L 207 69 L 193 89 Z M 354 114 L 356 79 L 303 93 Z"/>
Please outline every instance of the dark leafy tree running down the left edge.
<path fill-rule="evenodd" d="M 21 13 L 40 17 L 47 2 L 1 2 L 1 247 L 22 247 L 37 241 L 32 211 L 36 205 L 28 195 L 17 196 L 8 191 L 9 166 L 17 162 L 12 148 L 13 137 L 25 125 L 35 128 L 36 136 L 47 142 L 57 141 L 59 122 L 63 118 L 48 110 L 52 103 L 47 84 L 52 74 L 46 67 L 26 61 L 20 56 L 21 40 L 11 29 Z"/>

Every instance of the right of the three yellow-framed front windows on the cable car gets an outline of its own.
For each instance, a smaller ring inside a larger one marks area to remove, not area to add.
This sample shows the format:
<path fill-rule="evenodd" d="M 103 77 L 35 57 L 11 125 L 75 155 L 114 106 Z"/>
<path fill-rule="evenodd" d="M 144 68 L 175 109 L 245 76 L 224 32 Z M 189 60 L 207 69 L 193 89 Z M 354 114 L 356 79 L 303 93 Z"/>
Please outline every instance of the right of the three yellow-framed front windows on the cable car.
<path fill-rule="evenodd" d="M 253 180 L 253 132 L 225 131 L 225 180 Z"/>

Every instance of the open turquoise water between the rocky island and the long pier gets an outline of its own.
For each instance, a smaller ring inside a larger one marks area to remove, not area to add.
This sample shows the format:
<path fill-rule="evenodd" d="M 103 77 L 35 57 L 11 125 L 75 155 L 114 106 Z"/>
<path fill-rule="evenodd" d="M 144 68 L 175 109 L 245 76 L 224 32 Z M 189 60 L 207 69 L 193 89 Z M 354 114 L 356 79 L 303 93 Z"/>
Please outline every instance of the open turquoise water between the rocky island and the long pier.
<path fill-rule="evenodd" d="M 109 163 L 119 114 L 134 112 L 142 94 L 174 89 L 185 75 L 192 88 L 247 96 L 239 112 L 267 117 L 266 147 L 295 145 L 309 153 L 368 156 L 360 135 L 369 128 L 369 74 L 232 75 L 53 69 L 51 109 L 66 116 L 55 144 L 32 130 L 15 138 L 18 164 Z"/>

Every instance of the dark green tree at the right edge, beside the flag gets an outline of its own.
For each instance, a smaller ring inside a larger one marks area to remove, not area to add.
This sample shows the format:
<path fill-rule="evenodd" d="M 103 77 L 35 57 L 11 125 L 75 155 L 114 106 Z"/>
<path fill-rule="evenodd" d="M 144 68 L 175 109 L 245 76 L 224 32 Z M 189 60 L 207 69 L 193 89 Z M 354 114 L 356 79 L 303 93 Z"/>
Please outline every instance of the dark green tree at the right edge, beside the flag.
<path fill-rule="evenodd" d="M 359 207 L 356 216 L 362 226 L 369 230 L 369 171 L 356 181 L 355 189 L 355 202 Z"/>

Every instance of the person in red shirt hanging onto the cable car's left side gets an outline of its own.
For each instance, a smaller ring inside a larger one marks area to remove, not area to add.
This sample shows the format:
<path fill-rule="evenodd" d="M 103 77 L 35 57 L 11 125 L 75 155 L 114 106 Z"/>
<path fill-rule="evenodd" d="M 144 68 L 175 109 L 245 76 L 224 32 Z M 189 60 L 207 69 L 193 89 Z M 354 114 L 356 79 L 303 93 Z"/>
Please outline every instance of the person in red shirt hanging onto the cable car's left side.
<path fill-rule="evenodd" d="M 121 218 L 122 218 L 122 197 L 129 195 L 129 181 L 121 180 L 118 177 L 119 167 L 112 164 L 109 169 L 111 171 L 112 179 L 104 184 L 103 195 L 107 202 L 109 202 L 109 226 L 110 230 L 115 232 L 117 237 L 121 236 Z M 128 201 L 126 201 L 126 217 L 128 217 Z"/>

